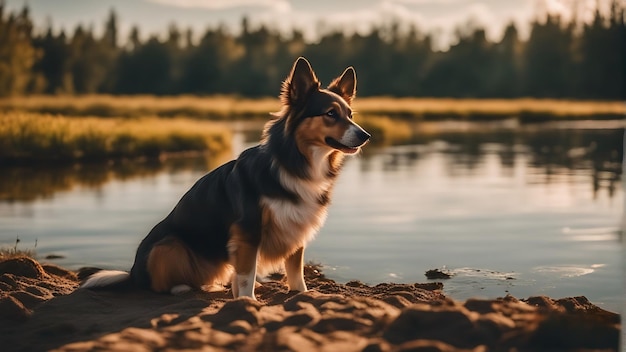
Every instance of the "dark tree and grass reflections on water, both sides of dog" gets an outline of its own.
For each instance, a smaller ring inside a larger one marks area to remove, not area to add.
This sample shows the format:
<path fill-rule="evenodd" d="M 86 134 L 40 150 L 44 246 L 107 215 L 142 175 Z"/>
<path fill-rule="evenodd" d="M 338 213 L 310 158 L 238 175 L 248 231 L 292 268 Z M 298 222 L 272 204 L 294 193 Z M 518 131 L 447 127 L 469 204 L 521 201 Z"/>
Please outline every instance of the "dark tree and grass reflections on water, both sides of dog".
<path fill-rule="evenodd" d="M 417 123 L 410 148 L 388 151 L 383 170 L 412 167 L 422 155 L 443 153 L 446 172 L 450 177 L 471 175 L 480 168 L 487 156 L 495 157 L 501 172 L 513 175 L 520 156 L 528 158 L 536 168 L 537 180 L 531 183 L 551 184 L 555 178 L 568 173 L 587 175 L 593 184 L 594 198 L 606 190 L 610 197 L 620 186 L 623 158 L 623 121 L 544 123 L 517 125 L 505 122 Z M 235 138 L 240 148 L 257 143 L 259 126 L 244 130 Z M 235 143 L 237 145 L 237 143 Z M 366 148 L 361 168 L 372 166 L 373 148 Z M 237 154 L 241 150 L 234 150 Z M 195 156 L 165 160 L 116 161 L 108 164 L 65 165 L 56 167 L 3 167 L 0 173 L 0 201 L 18 202 L 49 198 L 56 192 L 75 187 L 99 188 L 112 180 L 129 180 L 175 170 L 210 170 L 232 157 Z"/>

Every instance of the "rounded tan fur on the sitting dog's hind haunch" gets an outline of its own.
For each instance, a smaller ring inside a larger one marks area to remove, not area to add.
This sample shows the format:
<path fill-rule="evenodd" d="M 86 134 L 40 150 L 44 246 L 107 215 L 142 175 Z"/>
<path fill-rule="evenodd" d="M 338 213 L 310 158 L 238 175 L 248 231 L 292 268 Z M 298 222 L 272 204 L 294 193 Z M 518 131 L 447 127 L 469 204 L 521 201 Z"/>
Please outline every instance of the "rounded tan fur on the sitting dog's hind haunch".
<path fill-rule="evenodd" d="M 199 258 L 182 242 L 166 239 L 157 243 L 148 256 L 151 287 L 156 292 L 169 292 L 176 285 L 199 289 L 223 279 L 228 272 L 226 263 L 210 263 Z"/>

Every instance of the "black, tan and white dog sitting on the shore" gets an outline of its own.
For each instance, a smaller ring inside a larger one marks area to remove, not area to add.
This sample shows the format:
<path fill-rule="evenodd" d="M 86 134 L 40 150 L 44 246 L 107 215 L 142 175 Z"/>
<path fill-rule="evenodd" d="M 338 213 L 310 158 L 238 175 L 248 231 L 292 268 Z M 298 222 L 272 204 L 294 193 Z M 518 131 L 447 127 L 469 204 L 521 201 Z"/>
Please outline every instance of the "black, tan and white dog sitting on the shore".
<path fill-rule="evenodd" d="M 98 271 L 81 287 L 181 294 L 231 275 L 235 298 L 256 299 L 257 266 L 283 264 L 289 289 L 306 291 L 304 249 L 326 220 L 344 156 L 370 139 L 352 119 L 355 95 L 352 67 L 324 89 L 298 58 L 260 144 L 200 178 L 141 241 L 130 273 Z"/>

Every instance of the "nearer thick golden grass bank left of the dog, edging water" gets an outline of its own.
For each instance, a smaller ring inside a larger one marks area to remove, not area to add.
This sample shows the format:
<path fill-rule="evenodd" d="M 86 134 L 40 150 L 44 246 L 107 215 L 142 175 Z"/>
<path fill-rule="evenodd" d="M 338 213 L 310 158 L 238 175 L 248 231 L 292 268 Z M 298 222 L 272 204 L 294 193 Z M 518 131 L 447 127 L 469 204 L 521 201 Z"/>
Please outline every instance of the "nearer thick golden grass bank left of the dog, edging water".
<path fill-rule="evenodd" d="M 231 133 L 190 119 L 62 117 L 0 113 L 0 160 L 96 160 L 156 157 L 230 148 Z"/>

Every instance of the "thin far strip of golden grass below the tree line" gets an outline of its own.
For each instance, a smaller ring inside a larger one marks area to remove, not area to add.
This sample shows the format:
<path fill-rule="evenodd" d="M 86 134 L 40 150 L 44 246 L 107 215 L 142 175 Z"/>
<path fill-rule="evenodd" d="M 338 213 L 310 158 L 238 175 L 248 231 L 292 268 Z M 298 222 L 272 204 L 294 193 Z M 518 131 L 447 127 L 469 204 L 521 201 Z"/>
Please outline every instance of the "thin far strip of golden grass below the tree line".
<path fill-rule="evenodd" d="M 431 99 L 358 98 L 354 108 L 363 115 L 405 119 L 623 118 L 620 101 L 572 101 L 543 99 Z M 33 96 L 0 99 L 0 111 L 20 110 L 66 116 L 142 117 L 184 116 L 232 120 L 268 118 L 278 111 L 277 98 L 244 99 L 232 96 Z"/>

